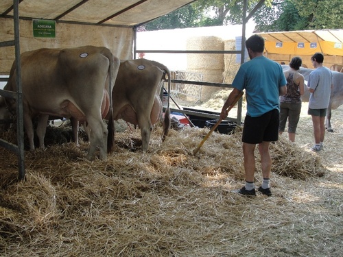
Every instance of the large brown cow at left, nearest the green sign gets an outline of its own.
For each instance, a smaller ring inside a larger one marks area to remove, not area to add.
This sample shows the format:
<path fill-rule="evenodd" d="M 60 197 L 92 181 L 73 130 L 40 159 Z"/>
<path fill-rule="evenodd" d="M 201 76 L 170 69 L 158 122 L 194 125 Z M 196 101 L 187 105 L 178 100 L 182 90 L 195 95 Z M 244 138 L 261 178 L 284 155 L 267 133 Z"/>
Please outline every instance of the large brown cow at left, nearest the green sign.
<path fill-rule="evenodd" d="M 23 121 L 34 150 L 32 119 L 38 117 L 39 147 L 44 137 L 49 115 L 73 117 L 86 121 L 90 128 L 90 146 L 86 158 L 106 160 L 113 150 L 114 124 L 104 124 L 102 118 L 113 116 L 112 90 L 119 69 L 119 58 L 106 47 L 83 46 L 65 49 L 37 49 L 21 54 L 21 84 L 23 91 Z M 5 90 L 16 91 L 15 61 Z M 11 112 L 16 110 L 14 99 L 6 99 Z M 111 120 L 111 119 L 110 119 Z"/>

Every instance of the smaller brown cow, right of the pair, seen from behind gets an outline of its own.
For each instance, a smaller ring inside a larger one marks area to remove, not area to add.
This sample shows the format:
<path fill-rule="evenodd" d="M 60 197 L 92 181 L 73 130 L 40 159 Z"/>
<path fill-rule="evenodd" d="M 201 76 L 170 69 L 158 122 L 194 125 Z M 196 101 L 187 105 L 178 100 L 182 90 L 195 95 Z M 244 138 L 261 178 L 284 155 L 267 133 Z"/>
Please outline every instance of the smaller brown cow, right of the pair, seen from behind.
<path fill-rule="evenodd" d="M 166 78 L 167 75 L 167 78 Z M 136 59 L 121 60 L 115 86 L 113 88 L 113 119 L 123 119 L 141 129 L 142 151 L 147 151 L 152 126 L 161 119 L 163 105 L 161 89 L 163 82 L 168 79 L 168 92 L 170 93 L 169 69 L 152 60 Z M 169 97 L 169 94 L 168 94 Z M 170 126 L 169 99 L 163 122 L 164 140 Z M 109 117 L 106 117 L 109 119 Z M 77 124 L 71 121 L 74 138 L 78 143 Z M 85 124 L 84 124 L 85 125 Z M 87 131 L 87 126 L 84 126 Z"/>

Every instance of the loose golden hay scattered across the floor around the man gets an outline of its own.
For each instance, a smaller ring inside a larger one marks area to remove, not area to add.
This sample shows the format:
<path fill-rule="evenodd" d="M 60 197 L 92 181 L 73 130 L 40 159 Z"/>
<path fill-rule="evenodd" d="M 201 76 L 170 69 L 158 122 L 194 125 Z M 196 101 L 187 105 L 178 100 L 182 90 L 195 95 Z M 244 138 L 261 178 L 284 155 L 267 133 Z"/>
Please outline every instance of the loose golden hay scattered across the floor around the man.
<path fill-rule="evenodd" d="M 107 161 L 86 160 L 86 140 L 26 151 L 25 182 L 1 148 L 0 254 L 342 255 L 342 185 L 307 187 L 330 172 L 318 154 L 281 138 L 271 146 L 274 196 L 250 199 L 231 192 L 244 181 L 240 128 L 214 132 L 197 156 L 208 129 L 171 130 L 164 143 L 161 132 L 147 153 L 139 130 L 116 133 Z"/>

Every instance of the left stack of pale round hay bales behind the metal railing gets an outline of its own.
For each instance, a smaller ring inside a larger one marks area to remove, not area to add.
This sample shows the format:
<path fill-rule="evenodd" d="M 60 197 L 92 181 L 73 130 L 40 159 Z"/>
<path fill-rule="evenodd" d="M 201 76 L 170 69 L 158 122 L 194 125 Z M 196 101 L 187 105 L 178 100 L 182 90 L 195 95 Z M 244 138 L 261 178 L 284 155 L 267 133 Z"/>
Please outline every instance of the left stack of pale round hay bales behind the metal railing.
<path fill-rule="evenodd" d="M 222 38 L 216 36 L 198 36 L 187 40 L 187 50 L 224 51 Z M 187 54 L 187 71 L 202 73 L 204 82 L 223 82 L 223 53 L 189 53 Z M 202 86 L 200 101 L 211 99 L 211 95 L 222 88 Z"/>

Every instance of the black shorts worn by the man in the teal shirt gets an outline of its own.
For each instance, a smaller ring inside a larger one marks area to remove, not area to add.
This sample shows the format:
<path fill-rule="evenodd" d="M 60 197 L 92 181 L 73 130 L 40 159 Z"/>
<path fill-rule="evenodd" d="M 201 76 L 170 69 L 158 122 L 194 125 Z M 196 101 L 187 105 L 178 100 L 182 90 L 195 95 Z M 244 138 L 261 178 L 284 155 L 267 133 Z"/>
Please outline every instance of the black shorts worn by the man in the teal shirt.
<path fill-rule="evenodd" d="M 248 144 L 259 144 L 262 141 L 274 142 L 279 139 L 279 110 L 274 109 L 260 117 L 246 115 L 241 140 Z"/>

